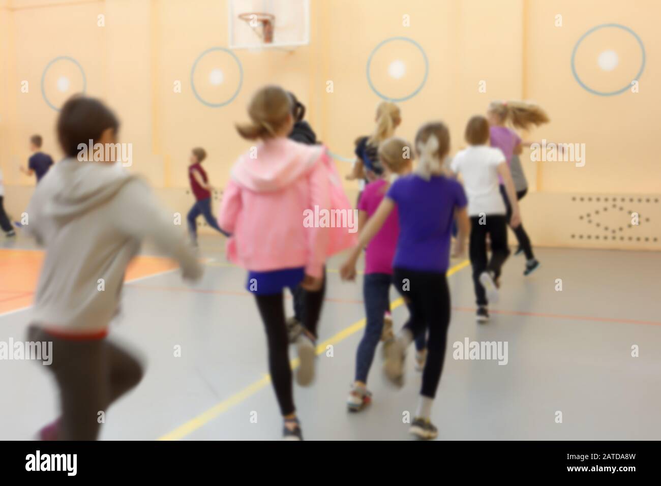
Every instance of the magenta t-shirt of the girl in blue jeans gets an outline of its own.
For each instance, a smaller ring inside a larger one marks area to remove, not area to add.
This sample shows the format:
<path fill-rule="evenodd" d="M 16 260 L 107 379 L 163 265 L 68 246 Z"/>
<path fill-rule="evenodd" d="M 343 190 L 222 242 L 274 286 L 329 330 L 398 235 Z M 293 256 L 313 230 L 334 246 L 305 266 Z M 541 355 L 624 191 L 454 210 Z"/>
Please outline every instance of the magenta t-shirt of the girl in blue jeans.
<path fill-rule="evenodd" d="M 383 179 L 369 182 L 365 186 L 358 202 L 358 210 L 365 211 L 368 218 L 376 212 L 385 197 L 388 183 Z M 399 222 L 397 219 L 397 208 L 391 212 L 385 220 L 379 232 L 376 233 L 366 250 L 365 273 L 393 273 L 393 258 L 397 249 L 397 238 L 399 237 Z"/>

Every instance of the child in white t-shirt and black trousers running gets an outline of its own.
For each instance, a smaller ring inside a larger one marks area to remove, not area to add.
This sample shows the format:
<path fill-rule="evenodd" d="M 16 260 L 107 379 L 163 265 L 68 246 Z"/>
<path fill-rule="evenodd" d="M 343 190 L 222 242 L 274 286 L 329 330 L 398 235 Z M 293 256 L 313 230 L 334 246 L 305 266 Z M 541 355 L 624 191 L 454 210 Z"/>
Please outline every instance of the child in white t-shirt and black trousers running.
<path fill-rule="evenodd" d="M 469 147 L 457 153 L 451 169 L 461 174 L 468 196 L 468 216 L 471 218 L 469 255 L 477 299 L 475 319 L 485 323 L 489 318 L 488 303 L 498 302 L 500 268 L 510 255 L 506 209 L 498 190 L 498 176 L 514 203 L 510 224 L 515 228 L 520 224 L 519 205 L 505 155 L 500 149 L 486 145 L 489 141 L 488 120 L 484 116 L 473 116 L 466 126 L 465 139 Z M 488 260 L 487 235 L 491 242 L 491 258 Z"/>

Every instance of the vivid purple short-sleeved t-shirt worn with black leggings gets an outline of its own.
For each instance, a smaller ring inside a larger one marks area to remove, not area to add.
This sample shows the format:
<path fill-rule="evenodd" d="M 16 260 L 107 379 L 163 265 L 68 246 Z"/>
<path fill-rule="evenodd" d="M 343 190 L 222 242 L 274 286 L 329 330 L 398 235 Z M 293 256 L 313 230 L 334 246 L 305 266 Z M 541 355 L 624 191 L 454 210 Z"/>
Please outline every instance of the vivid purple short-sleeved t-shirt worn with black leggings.
<path fill-rule="evenodd" d="M 387 197 L 399 212 L 393 267 L 446 272 L 454 211 L 467 204 L 461 184 L 443 176 L 425 181 L 411 174 L 397 179 Z"/>

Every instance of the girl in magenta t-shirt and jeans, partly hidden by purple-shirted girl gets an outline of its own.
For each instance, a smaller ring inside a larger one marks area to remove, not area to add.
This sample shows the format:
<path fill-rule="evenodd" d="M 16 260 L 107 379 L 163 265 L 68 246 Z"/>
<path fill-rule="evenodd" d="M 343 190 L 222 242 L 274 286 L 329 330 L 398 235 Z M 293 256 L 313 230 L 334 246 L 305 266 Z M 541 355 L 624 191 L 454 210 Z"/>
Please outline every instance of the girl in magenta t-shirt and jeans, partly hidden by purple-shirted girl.
<path fill-rule="evenodd" d="M 358 202 L 359 231 L 381 204 L 391 182 L 398 175 L 410 172 L 412 157 L 412 145 L 401 138 L 381 142 L 378 149 L 380 167 L 377 167 L 380 177 L 365 187 Z M 355 382 L 347 399 L 350 411 L 358 411 L 371 401 L 367 378 L 383 332 L 384 314 L 390 307 L 389 290 L 398 237 L 399 222 L 397 210 L 394 210 L 366 248 L 363 296 L 367 323 L 358 344 Z"/>

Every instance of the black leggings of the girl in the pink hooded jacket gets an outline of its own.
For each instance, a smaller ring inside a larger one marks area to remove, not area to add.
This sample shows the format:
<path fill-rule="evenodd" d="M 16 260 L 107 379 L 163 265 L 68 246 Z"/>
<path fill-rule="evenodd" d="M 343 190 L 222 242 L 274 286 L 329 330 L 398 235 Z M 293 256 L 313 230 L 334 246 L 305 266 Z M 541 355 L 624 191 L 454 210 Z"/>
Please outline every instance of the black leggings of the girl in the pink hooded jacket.
<path fill-rule="evenodd" d="M 323 286 L 326 285 L 324 278 Z M 305 292 L 303 307 L 303 326 L 317 337 L 317 324 L 321 313 L 321 292 Z M 292 368 L 289 362 L 289 337 L 285 318 L 284 297 L 280 294 L 255 296 L 268 342 L 268 371 L 276 391 L 280 413 L 290 415 L 295 412 L 292 391 Z"/>

